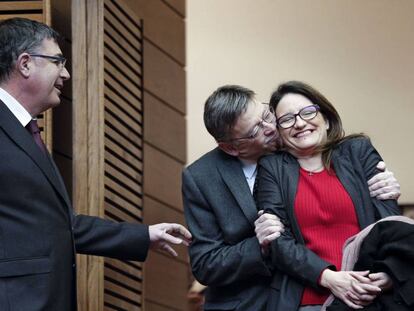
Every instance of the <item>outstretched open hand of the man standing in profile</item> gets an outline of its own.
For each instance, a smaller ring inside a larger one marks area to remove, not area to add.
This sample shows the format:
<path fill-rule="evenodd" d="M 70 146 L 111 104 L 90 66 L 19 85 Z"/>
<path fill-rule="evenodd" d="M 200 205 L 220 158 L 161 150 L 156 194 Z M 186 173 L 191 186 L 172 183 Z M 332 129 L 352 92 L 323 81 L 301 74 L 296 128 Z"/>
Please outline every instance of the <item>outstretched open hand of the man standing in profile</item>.
<path fill-rule="evenodd" d="M 170 244 L 191 243 L 191 233 L 180 224 L 155 224 L 148 227 L 150 236 L 150 248 L 163 250 L 172 256 L 177 256 L 177 252 Z"/>

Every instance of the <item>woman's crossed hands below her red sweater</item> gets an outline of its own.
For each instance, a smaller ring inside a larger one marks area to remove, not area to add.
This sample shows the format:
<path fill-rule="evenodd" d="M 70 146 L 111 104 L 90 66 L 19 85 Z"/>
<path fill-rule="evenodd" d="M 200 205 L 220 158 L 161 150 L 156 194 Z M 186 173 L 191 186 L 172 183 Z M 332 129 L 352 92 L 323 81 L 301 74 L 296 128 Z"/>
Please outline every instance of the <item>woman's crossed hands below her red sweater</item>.
<path fill-rule="evenodd" d="M 353 309 L 362 309 L 375 299 L 381 288 L 372 284 L 369 271 L 332 271 L 325 269 L 320 284 Z M 364 281 L 364 282 L 361 282 Z"/>

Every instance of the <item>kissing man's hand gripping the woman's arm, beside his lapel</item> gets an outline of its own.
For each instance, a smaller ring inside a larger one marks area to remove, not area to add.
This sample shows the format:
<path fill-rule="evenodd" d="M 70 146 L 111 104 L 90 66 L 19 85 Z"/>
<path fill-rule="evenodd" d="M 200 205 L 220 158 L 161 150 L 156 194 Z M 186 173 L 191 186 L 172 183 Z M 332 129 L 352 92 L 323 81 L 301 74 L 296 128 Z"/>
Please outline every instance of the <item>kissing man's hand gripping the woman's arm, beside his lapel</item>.
<path fill-rule="evenodd" d="M 259 218 L 254 222 L 254 231 L 262 247 L 262 253 L 266 253 L 269 244 L 280 237 L 284 227 L 276 215 L 259 211 Z"/>

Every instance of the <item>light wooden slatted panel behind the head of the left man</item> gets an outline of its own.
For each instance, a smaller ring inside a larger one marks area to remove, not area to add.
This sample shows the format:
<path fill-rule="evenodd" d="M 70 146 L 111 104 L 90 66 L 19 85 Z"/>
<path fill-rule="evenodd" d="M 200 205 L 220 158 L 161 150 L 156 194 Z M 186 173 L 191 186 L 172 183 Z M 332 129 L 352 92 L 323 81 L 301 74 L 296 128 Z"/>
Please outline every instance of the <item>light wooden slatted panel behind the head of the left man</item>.
<path fill-rule="evenodd" d="M 50 1 L 0 1 L 0 19 L 24 17 L 50 25 Z M 52 110 L 38 116 L 43 141 L 52 150 Z"/>

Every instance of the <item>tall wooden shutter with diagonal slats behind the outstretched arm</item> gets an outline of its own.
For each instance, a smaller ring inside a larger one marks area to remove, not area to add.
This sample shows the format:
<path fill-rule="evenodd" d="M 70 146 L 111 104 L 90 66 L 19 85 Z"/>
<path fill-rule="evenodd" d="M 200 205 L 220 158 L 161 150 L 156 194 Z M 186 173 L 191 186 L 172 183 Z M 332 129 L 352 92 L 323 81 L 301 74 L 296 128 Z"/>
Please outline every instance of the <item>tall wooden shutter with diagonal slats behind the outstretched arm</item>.
<path fill-rule="evenodd" d="M 142 222 L 142 25 L 104 1 L 105 217 Z M 137 246 L 138 247 L 138 246 Z M 106 310 L 142 309 L 142 265 L 105 259 Z"/>

